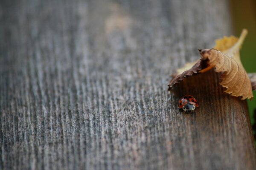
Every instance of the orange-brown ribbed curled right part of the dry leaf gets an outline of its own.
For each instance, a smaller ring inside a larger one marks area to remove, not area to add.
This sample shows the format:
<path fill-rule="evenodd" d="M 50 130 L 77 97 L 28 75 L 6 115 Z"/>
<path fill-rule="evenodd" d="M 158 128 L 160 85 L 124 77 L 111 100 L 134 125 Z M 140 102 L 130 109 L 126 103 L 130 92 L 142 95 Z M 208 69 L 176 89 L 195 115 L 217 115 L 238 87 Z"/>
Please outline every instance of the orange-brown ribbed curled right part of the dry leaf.
<path fill-rule="evenodd" d="M 244 67 L 235 59 L 228 57 L 216 49 L 200 51 L 202 60 L 208 60 L 209 66 L 214 66 L 215 71 L 221 73 L 220 85 L 227 88 L 224 91 L 231 96 L 242 96 L 241 99 L 252 99 L 252 85 Z"/>

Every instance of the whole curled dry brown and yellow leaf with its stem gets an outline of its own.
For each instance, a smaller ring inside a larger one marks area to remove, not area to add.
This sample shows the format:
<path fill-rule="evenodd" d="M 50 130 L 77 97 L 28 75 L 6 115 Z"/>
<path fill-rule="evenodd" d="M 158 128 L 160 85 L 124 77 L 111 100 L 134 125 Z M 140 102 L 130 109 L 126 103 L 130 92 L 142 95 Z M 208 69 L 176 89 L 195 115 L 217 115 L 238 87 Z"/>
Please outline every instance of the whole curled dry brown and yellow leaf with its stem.
<path fill-rule="evenodd" d="M 187 63 L 183 68 L 177 69 L 177 74 L 179 75 L 170 81 L 168 90 L 170 90 L 173 85 L 183 80 L 186 76 L 203 73 L 210 68 L 215 67 L 215 71 L 221 73 L 222 82 L 220 82 L 220 85 L 227 88 L 224 92 L 231 96 L 242 96 L 242 99 L 252 99 L 252 85 L 241 64 L 239 54 L 239 49 L 241 48 L 246 35 L 247 30 L 244 29 L 239 38 L 234 36 L 224 37 L 216 40 L 214 48 L 210 50 L 200 50 L 202 58 L 196 62 Z M 192 64 L 194 65 L 192 66 Z M 256 86 L 256 80 L 253 85 Z"/>

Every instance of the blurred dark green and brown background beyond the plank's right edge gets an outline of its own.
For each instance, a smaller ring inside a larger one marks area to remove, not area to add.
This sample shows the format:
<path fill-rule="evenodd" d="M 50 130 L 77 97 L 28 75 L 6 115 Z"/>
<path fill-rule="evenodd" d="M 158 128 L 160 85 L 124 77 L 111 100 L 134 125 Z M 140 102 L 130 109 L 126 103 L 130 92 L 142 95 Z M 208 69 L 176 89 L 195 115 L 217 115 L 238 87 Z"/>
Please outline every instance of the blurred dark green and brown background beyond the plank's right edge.
<path fill-rule="evenodd" d="M 233 28 L 236 37 L 239 37 L 243 28 L 248 30 L 247 37 L 241 48 L 241 62 L 247 73 L 256 72 L 256 0 L 230 0 Z M 253 91 L 253 100 L 247 100 L 250 122 L 256 123 L 254 110 L 256 109 L 256 92 Z M 255 125 L 254 125 L 255 126 Z M 253 130 L 254 141 L 256 130 Z"/>

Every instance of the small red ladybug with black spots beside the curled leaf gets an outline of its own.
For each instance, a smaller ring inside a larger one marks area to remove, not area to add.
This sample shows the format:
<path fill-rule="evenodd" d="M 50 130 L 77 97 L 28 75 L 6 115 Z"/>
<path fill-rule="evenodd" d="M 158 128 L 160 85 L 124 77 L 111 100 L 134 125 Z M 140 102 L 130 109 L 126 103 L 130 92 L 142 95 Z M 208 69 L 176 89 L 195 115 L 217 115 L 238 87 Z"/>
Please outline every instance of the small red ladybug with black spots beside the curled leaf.
<path fill-rule="evenodd" d="M 194 111 L 195 107 L 198 107 L 198 102 L 193 96 L 187 94 L 180 99 L 178 107 L 186 112 Z"/>

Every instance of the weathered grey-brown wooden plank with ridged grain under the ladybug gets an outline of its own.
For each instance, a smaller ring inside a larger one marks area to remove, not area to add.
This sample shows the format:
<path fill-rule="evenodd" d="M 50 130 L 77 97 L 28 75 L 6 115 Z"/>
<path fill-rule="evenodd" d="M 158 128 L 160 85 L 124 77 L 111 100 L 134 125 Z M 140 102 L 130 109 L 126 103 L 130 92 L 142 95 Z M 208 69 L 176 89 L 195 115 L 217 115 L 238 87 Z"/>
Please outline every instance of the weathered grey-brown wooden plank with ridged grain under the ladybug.
<path fill-rule="evenodd" d="M 2 0 L 0 169 L 256 167 L 246 101 L 173 70 L 231 31 L 224 0 Z M 198 99 L 182 114 L 178 99 Z"/>

